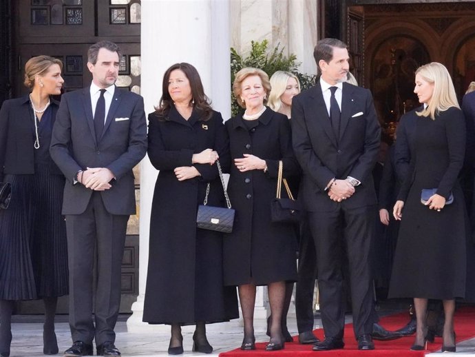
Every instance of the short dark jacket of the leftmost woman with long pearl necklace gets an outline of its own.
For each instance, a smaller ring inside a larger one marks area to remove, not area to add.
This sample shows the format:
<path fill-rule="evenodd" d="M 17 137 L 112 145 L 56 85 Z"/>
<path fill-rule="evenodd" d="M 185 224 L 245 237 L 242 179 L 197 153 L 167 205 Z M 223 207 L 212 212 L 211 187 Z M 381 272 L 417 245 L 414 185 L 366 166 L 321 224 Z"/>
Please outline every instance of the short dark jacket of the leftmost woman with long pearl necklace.
<path fill-rule="evenodd" d="M 52 119 L 55 121 L 59 102 L 54 99 L 50 101 Z M 0 181 L 3 181 L 5 174 L 34 174 L 33 120 L 28 95 L 3 102 L 0 110 Z M 62 174 L 52 159 L 50 172 Z"/>

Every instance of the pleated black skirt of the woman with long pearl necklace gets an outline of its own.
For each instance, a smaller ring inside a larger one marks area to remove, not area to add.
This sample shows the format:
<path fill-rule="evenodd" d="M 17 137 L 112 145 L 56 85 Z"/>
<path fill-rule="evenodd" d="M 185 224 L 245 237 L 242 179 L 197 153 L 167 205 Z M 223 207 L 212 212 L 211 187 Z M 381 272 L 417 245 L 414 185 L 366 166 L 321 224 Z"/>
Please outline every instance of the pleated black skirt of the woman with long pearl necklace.
<path fill-rule="evenodd" d="M 33 300 L 68 293 L 65 179 L 35 165 L 35 174 L 6 174 L 12 201 L 0 210 L 0 299 Z"/>

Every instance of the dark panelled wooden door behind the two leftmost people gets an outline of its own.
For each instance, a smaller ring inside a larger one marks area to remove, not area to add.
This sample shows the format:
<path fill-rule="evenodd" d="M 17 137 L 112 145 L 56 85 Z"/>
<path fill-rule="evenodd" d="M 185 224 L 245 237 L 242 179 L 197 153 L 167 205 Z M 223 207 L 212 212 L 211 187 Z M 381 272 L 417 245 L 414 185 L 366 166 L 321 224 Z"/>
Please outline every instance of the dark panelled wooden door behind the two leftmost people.
<path fill-rule="evenodd" d="M 87 87 L 92 81 L 87 70 L 87 49 L 105 39 L 118 43 L 123 53 L 116 85 L 140 94 L 140 0 L 17 0 L 11 3 L 14 37 L 10 40 L 16 44 L 10 60 L 14 79 L 12 97 L 28 94 L 23 85 L 23 68 L 28 59 L 39 54 L 63 61 L 65 92 Z M 138 197 L 138 167 L 134 173 Z M 138 242 L 138 216 L 131 216 L 123 257 L 120 312 L 131 312 L 131 304 L 138 295 Z M 43 306 L 39 301 L 21 302 L 17 313 L 41 314 Z M 67 296 L 59 301 L 59 313 L 67 313 Z"/>

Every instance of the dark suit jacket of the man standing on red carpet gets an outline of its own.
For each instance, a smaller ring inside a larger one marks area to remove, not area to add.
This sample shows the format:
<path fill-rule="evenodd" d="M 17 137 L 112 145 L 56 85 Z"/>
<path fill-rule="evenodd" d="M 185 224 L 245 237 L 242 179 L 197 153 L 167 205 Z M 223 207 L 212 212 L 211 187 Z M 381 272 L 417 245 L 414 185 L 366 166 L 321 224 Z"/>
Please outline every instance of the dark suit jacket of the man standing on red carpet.
<path fill-rule="evenodd" d="M 371 92 L 343 83 L 339 138 L 335 137 L 319 83 L 292 100 L 292 139 L 304 172 L 301 192 L 310 212 L 355 208 L 377 203 L 372 169 L 377 160 L 381 128 Z M 332 201 L 325 187 L 333 177 L 361 181 L 342 203 Z"/>

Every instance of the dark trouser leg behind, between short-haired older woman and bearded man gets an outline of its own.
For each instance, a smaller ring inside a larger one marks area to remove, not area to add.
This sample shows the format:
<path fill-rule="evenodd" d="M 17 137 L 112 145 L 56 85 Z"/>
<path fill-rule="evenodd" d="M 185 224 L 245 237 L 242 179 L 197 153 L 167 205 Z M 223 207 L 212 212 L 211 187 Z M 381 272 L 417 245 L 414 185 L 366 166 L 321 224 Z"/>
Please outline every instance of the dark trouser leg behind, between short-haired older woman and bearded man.
<path fill-rule="evenodd" d="M 299 270 L 295 286 L 295 316 L 297 329 L 302 332 L 313 331 L 313 290 L 317 279 L 317 255 L 313 243 L 308 217 L 300 225 Z"/>

